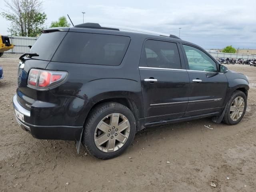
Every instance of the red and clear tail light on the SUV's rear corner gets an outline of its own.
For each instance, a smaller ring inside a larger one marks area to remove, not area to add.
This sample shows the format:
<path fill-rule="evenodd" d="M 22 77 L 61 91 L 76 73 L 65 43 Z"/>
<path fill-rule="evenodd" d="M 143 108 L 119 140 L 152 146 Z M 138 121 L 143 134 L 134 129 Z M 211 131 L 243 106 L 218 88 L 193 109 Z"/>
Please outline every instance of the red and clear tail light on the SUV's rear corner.
<path fill-rule="evenodd" d="M 37 88 L 49 88 L 64 81 L 68 72 L 31 69 L 28 75 L 28 85 Z"/>

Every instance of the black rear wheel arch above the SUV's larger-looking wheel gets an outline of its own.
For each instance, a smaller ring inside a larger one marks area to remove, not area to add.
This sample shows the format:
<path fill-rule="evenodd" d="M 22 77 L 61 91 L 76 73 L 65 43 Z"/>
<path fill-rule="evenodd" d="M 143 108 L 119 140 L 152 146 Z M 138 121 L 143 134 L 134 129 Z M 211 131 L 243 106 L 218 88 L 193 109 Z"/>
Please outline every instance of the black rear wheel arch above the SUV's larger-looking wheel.
<path fill-rule="evenodd" d="M 90 112 L 103 102 L 123 104 L 132 111 L 137 122 L 138 119 L 144 118 L 143 98 L 139 79 L 104 78 L 92 80 L 82 86 L 78 95 L 88 100 L 91 104 L 91 106 L 84 108 L 83 117 L 81 116 L 84 123 Z"/>

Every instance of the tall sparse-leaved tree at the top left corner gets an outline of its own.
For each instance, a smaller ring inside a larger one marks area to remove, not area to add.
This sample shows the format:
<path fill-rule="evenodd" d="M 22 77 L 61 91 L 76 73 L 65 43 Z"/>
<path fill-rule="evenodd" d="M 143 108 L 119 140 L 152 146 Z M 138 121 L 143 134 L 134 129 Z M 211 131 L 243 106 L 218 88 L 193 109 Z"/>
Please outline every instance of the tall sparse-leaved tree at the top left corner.
<path fill-rule="evenodd" d="M 9 8 L 1 15 L 11 22 L 8 31 L 18 36 L 36 37 L 41 34 L 46 14 L 42 12 L 41 0 L 4 0 Z"/>

